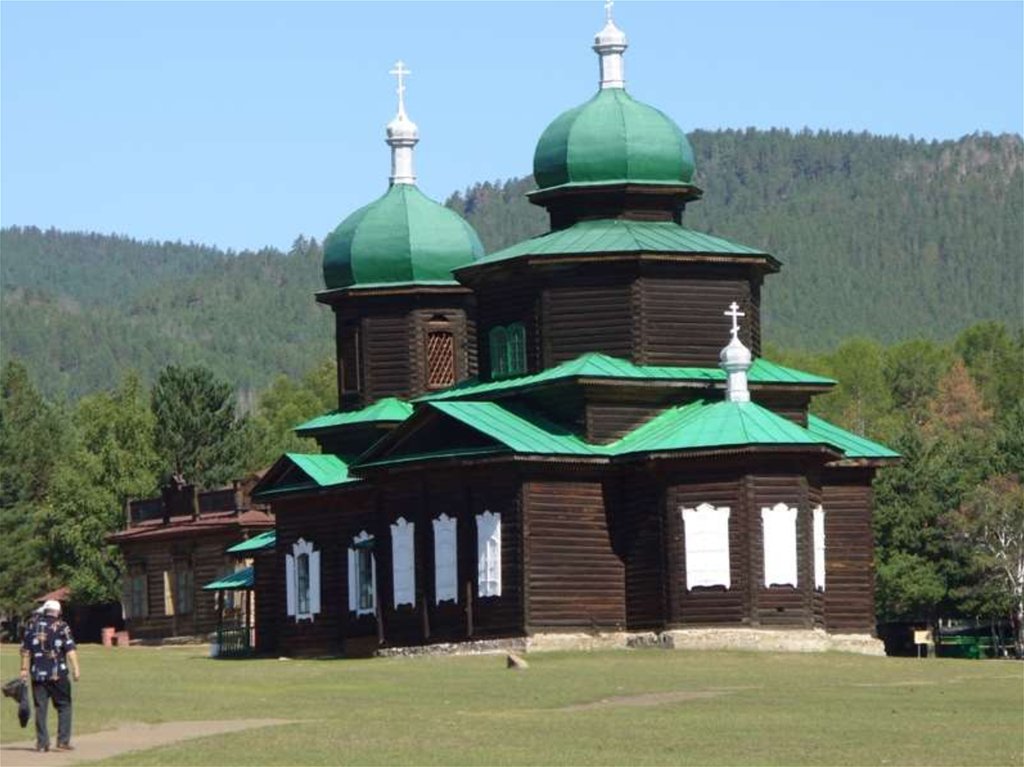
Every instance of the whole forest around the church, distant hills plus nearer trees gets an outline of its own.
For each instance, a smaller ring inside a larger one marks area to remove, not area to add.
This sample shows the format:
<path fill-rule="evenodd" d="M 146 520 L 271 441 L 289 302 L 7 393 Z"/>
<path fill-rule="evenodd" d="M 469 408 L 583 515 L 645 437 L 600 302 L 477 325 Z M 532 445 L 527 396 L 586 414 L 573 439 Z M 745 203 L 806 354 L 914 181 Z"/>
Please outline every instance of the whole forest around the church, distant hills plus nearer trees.
<path fill-rule="evenodd" d="M 761 246 L 765 355 L 840 383 L 813 412 L 903 456 L 876 482 L 881 621 L 999 621 L 1024 598 L 1020 136 L 695 132 L 688 226 Z M 526 179 L 447 204 L 488 250 L 543 230 Z M 331 224 L 333 225 L 333 223 Z M 0 232 L 0 610 L 118 599 L 104 536 L 172 472 L 212 487 L 314 452 L 336 407 L 321 249 Z"/>

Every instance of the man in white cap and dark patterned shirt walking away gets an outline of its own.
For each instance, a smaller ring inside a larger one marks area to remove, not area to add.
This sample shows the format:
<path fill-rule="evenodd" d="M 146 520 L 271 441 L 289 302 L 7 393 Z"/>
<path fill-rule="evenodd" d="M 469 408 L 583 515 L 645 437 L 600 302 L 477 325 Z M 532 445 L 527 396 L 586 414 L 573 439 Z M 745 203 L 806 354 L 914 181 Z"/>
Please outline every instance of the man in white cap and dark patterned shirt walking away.
<path fill-rule="evenodd" d="M 22 679 L 32 678 L 36 707 L 36 751 L 50 750 L 46 715 L 50 700 L 57 710 L 57 751 L 73 751 L 71 744 L 71 678 L 81 678 L 78 651 L 71 627 L 60 620 L 60 602 L 43 603 L 42 616 L 25 632 L 22 642 Z"/>

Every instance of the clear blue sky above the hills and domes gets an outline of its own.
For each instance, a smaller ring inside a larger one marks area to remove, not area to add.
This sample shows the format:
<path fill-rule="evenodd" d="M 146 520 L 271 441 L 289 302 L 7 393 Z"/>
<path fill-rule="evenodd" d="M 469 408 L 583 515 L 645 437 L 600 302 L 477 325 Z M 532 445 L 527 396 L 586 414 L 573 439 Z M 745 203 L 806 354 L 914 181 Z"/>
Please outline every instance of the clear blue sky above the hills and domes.
<path fill-rule="evenodd" d="M 630 91 L 695 128 L 1024 131 L 1021 2 L 616 3 Z M 0 222 L 287 248 L 386 188 L 528 173 L 594 92 L 587 2 L 0 3 Z M 708 179 L 714 183 L 714 179 Z"/>

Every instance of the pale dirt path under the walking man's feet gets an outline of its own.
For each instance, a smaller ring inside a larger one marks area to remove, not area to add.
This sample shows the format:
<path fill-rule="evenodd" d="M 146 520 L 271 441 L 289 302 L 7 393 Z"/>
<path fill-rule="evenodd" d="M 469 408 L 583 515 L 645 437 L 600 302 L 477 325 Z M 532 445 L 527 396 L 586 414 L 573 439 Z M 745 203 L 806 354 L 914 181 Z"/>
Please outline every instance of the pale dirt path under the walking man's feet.
<path fill-rule="evenodd" d="M 56 717 L 51 717 L 56 724 Z M 50 751 L 48 754 L 36 752 L 35 740 L 7 743 L 0 747 L 0 764 L 3 767 L 68 767 L 81 762 L 116 757 L 131 751 L 145 751 L 158 745 L 188 740 L 205 735 L 219 735 L 224 732 L 248 730 L 253 727 L 268 727 L 288 724 L 287 719 L 234 719 L 220 722 L 164 722 L 162 724 L 125 724 L 116 730 L 91 732 L 75 735 L 72 740 L 75 751 Z M 31 727 L 31 725 L 30 725 Z"/>

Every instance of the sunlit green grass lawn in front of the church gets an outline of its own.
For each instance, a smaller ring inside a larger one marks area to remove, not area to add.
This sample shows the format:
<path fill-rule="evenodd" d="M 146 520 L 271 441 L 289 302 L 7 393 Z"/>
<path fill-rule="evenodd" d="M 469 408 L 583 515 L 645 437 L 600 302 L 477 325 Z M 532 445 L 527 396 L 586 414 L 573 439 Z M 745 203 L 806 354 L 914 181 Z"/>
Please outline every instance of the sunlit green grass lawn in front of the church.
<path fill-rule="evenodd" d="M 294 724 L 103 764 L 1022 765 L 1024 664 L 635 650 L 214 661 L 83 646 L 77 734 L 126 722 Z M 17 673 L 0 649 L 0 678 Z M 603 702 L 602 702 L 603 701 Z M 0 740 L 31 737 L 15 707 Z M 54 725 L 55 725 L 55 717 Z"/>

